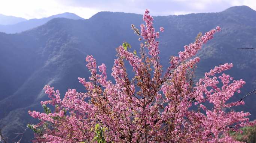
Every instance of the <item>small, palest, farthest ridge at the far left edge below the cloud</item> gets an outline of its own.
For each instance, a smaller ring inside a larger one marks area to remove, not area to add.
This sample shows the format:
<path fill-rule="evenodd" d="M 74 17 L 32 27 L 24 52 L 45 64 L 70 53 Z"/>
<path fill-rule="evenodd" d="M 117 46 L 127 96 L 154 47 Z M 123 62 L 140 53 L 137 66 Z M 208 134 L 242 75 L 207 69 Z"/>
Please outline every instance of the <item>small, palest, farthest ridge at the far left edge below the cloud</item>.
<path fill-rule="evenodd" d="M 10 25 L 10 24 L 16 24 L 22 21 L 26 21 L 25 18 L 17 18 L 15 16 L 6 16 L 0 14 L 0 25 Z"/>

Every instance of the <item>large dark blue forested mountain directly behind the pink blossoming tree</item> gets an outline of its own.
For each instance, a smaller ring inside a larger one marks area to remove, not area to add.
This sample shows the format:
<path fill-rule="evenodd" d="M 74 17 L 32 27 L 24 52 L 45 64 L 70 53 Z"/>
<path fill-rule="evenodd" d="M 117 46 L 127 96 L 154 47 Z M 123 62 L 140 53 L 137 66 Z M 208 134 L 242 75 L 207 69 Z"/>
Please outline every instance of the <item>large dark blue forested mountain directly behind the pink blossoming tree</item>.
<path fill-rule="evenodd" d="M 256 88 L 256 11 L 247 6 L 231 7 L 219 13 L 198 13 L 179 16 L 154 17 L 154 26 L 165 32 L 160 35 L 160 57 L 164 68 L 171 55 L 177 55 L 183 46 L 195 40 L 199 32 L 205 33 L 220 26 L 197 54 L 201 61 L 196 69 L 196 79 L 204 72 L 223 63 L 234 63 L 225 72 L 234 79 L 244 79 L 247 84 L 242 98 Z M 110 80 L 115 59 L 115 48 L 127 41 L 132 50 L 139 51 L 137 35 L 131 24 L 139 27 L 142 15 L 121 12 L 99 12 L 86 20 L 54 18 L 42 26 L 18 34 L 0 33 L 0 119 L 4 134 L 16 136 L 27 123 L 35 123 L 28 110 L 42 111 L 40 101 L 48 100 L 43 86 L 49 84 L 64 96 L 68 88 L 85 91 L 77 77 L 88 79 L 85 57 L 92 54 L 98 65 L 105 63 Z M 131 71 L 131 70 L 130 70 Z M 246 105 L 232 108 L 251 112 L 256 119 L 256 96 L 245 98 Z M 33 133 L 26 131 L 22 142 L 29 142 Z"/>

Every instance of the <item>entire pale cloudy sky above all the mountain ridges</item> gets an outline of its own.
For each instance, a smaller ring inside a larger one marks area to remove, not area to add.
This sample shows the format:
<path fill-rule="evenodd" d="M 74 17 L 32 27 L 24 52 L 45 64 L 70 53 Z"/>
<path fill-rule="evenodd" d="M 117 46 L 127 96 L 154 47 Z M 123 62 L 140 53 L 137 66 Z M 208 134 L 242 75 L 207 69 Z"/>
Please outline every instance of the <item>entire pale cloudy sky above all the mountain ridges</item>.
<path fill-rule="evenodd" d="M 64 12 L 88 19 L 97 12 L 126 12 L 153 16 L 221 12 L 246 5 L 256 10 L 256 0 L 0 0 L 0 14 L 25 19 L 44 18 Z"/>

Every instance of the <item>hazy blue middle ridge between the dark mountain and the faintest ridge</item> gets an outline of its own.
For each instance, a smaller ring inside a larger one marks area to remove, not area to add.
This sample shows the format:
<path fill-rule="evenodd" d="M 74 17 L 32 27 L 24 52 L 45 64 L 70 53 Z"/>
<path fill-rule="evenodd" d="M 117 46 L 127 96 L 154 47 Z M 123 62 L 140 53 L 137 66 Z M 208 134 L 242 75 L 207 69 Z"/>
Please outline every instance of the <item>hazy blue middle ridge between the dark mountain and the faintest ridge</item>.
<path fill-rule="evenodd" d="M 48 22 L 51 19 L 54 18 L 68 18 L 68 19 L 83 19 L 74 13 L 62 13 L 58 15 L 53 15 L 48 18 L 42 18 L 42 19 L 30 19 L 26 21 L 22 21 L 16 24 L 11 25 L 0 25 L 0 32 L 5 32 L 7 34 L 14 34 L 19 33 L 22 31 L 26 31 L 32 28 L 36 28 L 37 26 L 41 26 Z"/>

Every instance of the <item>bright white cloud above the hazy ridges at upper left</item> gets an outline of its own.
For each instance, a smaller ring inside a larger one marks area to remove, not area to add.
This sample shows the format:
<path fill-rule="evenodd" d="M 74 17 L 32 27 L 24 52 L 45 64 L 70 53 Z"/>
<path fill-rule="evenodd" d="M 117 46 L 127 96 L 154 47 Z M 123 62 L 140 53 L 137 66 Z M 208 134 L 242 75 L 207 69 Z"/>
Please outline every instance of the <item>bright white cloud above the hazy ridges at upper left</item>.
<path fill-rule="evenodd" d="M 99 10 L 88 7 L 63 5 L 55 0 L 0 0 L 0 13 L 26 19 L 43 18 L 64 12 L 72 12 L 90 18 Z"/>

